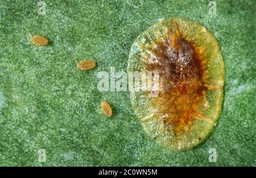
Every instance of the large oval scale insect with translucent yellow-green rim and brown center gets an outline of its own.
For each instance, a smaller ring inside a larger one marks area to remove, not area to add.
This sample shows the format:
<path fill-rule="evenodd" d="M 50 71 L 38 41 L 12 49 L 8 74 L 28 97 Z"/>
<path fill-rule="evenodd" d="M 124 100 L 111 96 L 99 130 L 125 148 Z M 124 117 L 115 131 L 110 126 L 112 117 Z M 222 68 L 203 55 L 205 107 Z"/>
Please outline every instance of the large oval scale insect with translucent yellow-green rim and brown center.
<path fill-rule="evenodd" d="M 220 116 L 224 62 L 216 39 L 200 24 L 164 19 L 131 47 L 128 71 L 159 71 L 159 95 L 131 93 L 144 130 L 160 145 L 188 150 L 202 142 Z"/>

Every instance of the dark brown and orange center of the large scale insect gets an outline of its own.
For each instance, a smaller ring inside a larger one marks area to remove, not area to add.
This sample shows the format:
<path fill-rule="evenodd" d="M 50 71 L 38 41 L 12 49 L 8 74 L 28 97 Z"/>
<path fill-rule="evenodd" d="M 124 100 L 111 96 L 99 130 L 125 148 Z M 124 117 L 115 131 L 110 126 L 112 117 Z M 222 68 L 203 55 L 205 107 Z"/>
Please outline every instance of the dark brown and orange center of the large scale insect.
<path fill-rule="evenodd" d="M 169 40 L 168 40 L 169 39 Z M 193 116 L 205 99 L 204 62 L 195 45 L 182 37 L 171 36 L 151 50 L 154 60 L 148 71 L 159 71 L 159 95 L 155 99 L 157 117 L 175 135 L 187 132 Z"/>

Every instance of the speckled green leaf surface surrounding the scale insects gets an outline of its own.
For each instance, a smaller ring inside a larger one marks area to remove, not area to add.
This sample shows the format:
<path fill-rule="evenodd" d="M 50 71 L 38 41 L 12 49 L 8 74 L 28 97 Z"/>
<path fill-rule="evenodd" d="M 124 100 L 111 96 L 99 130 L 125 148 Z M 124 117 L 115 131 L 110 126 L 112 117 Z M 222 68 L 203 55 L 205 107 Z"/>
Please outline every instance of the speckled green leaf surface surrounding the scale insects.
<path fill-rule="evenodd" d="M 0 2 L 0 166 L 255 166 L 255 1 Z M 97 73 L 126 71 L 134 39 L 162 18 L 181 16 L 216 37 L 225 96 L 214 132 L 188 151 L 144 132 L 130 93 L 100 92 Z M 35 46 L 30 36 L 49 39 Z M 97 67 L 77 70 L 77 61 Z M 106 118 L 102 100 L 113 116 Z M 38 161 L 39 149 L 46 162 Z M 209 162 L 216 149 L 217 162 Z"/>

